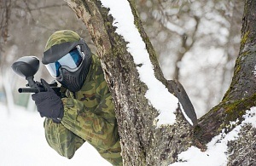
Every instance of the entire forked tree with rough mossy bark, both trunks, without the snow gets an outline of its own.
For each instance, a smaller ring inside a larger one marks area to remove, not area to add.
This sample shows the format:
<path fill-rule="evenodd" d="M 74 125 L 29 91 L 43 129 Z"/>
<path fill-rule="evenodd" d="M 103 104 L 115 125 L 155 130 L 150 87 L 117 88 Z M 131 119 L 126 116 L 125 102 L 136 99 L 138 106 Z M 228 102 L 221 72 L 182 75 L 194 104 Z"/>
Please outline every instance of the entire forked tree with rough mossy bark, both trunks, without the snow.
<path fill-rule="evenodd" d="M 127 51 L 128 42 L 116 31 L 118 28 L 113 24 L 113 16 L 108 14 L 109 9 L 103 7 L 103 1 L 66 1 L 84 21 L 96 44 L 105 78 L 113 94 L 124 165 L 168 165 L 182 160 L 178 155 L 187 151 L 189 147 L 196 146 L 202 152 L 206 151 L 207 143 L 214 136 L 221 133 L 222 129 L 225 133 L 231 132 L 242 122 L 242 115 L 246 110 L 255 106 L 255 76 L 252 71 L 255 70 L 253 46 L 256 26 L 253 25 L 256 23 L 253 20 L 253 12 L 256 2 L 246 1 L 241 51 L 236 61 L 230 89 L 225 94 L 224 100 L 212 108 L 206 116 L 201 117 L 200 123 L 196 125 L 193 106 L 183 92 L 183 87 L 175 81 L 168 82 L 163 77 L 154 48 L 143 30 L 134 3 L 129 0 L 118 1 L 123 2 L 124 5 L 128 2 L 134 16 L 134 24 L 148 51 L 155 80 L 159 80 L 166 86 L 171 97 L 175 94 L 179 99 L 179 102 L 174 104 L 176 110 L 173 111 L 170 108 L 170 114 L 173 112 L 175 115 L 175 122 L 160 125 L 158 116 L 161 112 L 154 105 L 154 100 L 148 99 L 148 90 L 151 88 L 141 78 L 141 72 L 138 72 L 145 64 L 137 63 L 131 51 Z M 156 90 L 155 96 L 159 93 Z M 190 117 L 194 126 L 189 124 L 186 115 Z M 230 121 L 236 121 L 236 119 L 239 119 L 239 122 L 230 126 Z M 230 165 L 255 162 L 256 153 L 253 146 L 256 141 L 252 136 L 256 133 L 255 128 L 245 124 L 240 131 L 241 137 L 230 140 L 228 143 L 228 153 L 232 152 L 228 158 Z"/>

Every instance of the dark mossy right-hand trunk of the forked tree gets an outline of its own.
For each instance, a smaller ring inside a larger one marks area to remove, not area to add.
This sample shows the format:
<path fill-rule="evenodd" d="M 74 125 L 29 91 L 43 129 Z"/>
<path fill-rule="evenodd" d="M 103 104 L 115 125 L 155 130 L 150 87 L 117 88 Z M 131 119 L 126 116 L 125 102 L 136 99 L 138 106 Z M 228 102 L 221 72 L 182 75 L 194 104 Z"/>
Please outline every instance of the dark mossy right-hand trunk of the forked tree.
<path fill-rule="evenodd" d="M 255 42 L 256 42 L 256 1 L 246 0 L 241 29 L 241 49 L 236 60 L 230 89 L 224 99 L 201 117 L 195 129 L 195 137 L 206 144 L 222 129 L 228 133 L 231 121 L 243 120 L 242 115 L 256 106 Z M 236 125 L 238 125 L 237 123 Z M 256 129 L 247 125 L 241 129 L 241 137 L 229 143 L 229 165 L 256 165 Z"/>

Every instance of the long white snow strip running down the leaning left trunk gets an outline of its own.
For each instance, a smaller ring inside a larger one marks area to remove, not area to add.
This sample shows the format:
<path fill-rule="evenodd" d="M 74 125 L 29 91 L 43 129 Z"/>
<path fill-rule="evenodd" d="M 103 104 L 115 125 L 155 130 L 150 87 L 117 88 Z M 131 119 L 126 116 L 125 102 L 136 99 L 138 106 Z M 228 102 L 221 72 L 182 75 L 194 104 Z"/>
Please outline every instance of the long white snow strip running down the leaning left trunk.
<path fill-rule="evenodd" d="M 177 98 L 169 93 L 166 86 L 154 76 L 154 67 L 149 59 L 146 44 L 143 42 L 137 27 L 134 25 L 134 16 L 127 0 L 101 0 L 103 7 L 109 9 L 108 14 L 113 16 L 113 26 L 116 33 L 124 37 L 127 51 L 132 55 L 140 80 L 148 86 L 145 97 L 148 102 L 160 113 L 156 117 L 157 127 L 176 122 L 175 112 L 178 107 Z M 182 107 L 182 106 L 181 106 Z M 181 108 L 182 109 L 182 108 Z M 191 121 L 190 121 L 191 122 Z"/>

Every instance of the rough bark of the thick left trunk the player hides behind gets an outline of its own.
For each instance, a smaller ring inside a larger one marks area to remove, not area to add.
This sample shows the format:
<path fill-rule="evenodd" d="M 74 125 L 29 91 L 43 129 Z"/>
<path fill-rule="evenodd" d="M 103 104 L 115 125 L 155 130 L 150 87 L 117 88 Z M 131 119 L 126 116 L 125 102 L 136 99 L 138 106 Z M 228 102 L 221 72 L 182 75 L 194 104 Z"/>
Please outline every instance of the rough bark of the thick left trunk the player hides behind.
<path fill-rule="evenodd" d="M 191 145 L 193 137 L 193 127 L 183 117 L 180 107 L 177 106 L 174 125 L 157 128 L 154 119 L 159 112 L 148 105 L 145 98 L 148 87 L 140 81 L 137 72 L 137 67 L 143 64 L 136 65 L 131 54 L 127 52 L 127 42 L 115 32 L 116 27 L 112 26 L 113 17 L 108 15 L 109 9 L 93 0 L 71 0 L 67 3 L 88 27 L 101 57 L 105 78 L 113 94 L 125 164 L 159 165 L 174 162 L 177 154 Z M 136 9 L 132 3 L 129 4 L 134 23 L 154 66 L 154 76 L 168 85 Z"/>

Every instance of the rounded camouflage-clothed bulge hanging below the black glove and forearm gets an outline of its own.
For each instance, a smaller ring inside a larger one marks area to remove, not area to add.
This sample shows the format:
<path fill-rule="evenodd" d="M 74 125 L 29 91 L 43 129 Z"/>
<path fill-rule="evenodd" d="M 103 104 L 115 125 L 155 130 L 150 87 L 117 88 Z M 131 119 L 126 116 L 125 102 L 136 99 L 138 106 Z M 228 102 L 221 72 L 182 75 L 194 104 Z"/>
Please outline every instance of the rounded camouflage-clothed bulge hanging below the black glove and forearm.
<path fill-rule="evenodd" d="M 84 144 L 84 140 L 66 129 L 61 123 L 53 123 L 49 118 L 44 120 L 46 140 L 61 156 L 72 158 L 74 153 Z"/>

